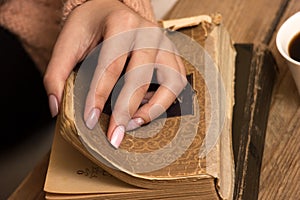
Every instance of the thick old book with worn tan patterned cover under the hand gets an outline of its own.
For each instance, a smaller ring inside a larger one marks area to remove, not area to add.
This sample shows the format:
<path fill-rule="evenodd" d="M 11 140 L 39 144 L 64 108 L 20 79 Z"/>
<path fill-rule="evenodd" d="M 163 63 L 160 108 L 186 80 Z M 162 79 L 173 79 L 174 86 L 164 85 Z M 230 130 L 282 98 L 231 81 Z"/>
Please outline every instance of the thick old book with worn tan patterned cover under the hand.
<path fill-rule="evenodd" d="M 94 130 L 85 127 L 81 91 L 90 79 L 81 67 L 74 71 L 57 119 L 47 199 L 233 198 L 233 42 L 219 14 L 161 24 L 184 60 L 188 86 L 166 116 L 127 133 L 115 149 L 105 139 L 109 111 Z M 82 65 L 95 65 L 92 57 Z"/>

